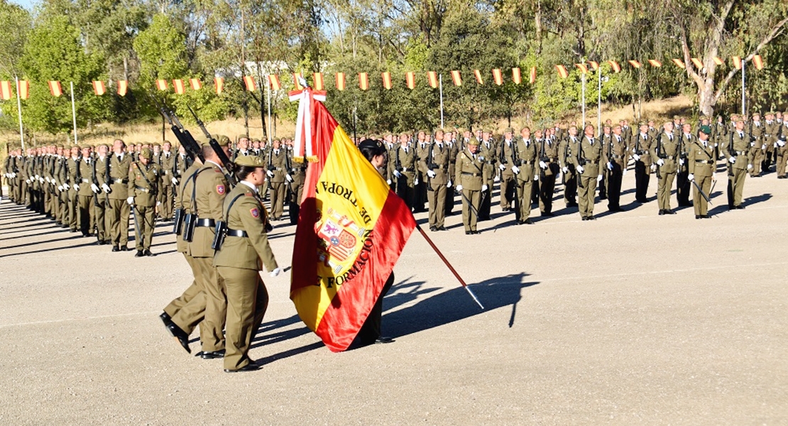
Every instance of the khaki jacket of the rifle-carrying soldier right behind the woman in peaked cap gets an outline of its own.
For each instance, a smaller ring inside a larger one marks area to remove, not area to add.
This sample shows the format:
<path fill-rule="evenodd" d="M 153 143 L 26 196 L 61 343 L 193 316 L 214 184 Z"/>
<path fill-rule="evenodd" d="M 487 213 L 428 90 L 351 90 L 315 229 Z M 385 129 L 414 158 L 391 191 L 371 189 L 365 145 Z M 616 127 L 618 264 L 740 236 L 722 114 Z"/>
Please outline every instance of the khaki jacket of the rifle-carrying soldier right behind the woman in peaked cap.
<path fill-rule="evenodd" d="M 206 161 L 206 164 L 197 172 L 194 190 L 195 199 L 192 204 L 194 209 L 191 213 L 197 214 L 199 220 L 213 219 L 221 220 L 224 216 L 222 205 L 225 202 L 225 194 L 228 190 L 225 173 L 219 165 Z M 185 194 L 191 197 L 191 193 Z M 213 257 L 214 249 L 210 248 L 214 243 L 214 227 L 198 226 L 195 228 L 194 237 L 189 243 L 189 252 L 192 257 Z"/>

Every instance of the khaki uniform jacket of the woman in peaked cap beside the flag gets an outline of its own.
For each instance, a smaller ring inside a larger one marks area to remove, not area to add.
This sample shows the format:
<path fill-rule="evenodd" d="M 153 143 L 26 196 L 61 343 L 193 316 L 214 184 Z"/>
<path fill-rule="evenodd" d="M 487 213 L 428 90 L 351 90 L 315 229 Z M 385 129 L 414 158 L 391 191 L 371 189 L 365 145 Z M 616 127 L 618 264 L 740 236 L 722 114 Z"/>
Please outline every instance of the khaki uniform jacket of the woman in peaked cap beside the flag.
<path fill-rule="evenodd" d="M 222 209 L 227 215 L 228 230 L 243 231 L 247 236 L 227 235 L 221 250 L 216 252 L 214 266 L 262 271 L 262 265 L 265 265 L 269 271 L 277 269 L 279 266 L 266 234 L 268 214 L 258 194 L 246 184 L 239 183 L 225 198 Z"/>

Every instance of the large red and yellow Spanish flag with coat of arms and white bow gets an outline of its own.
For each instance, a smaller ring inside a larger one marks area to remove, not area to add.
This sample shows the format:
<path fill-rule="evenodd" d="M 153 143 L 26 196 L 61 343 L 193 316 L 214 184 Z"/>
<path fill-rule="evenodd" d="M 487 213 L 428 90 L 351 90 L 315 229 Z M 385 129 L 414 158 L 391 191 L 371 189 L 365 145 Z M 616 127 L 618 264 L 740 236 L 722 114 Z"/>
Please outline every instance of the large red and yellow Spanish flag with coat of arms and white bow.
<path fill-rule="evenodd" d="M 307 327 L 340 352 L 359 333 L 416 222 L 315 99 L 321 96 L 308 88 L 291 92 L 303 120 L 296 128 L 305 129 L 300 139 L 312 146 L 315 161 L 296 227 L 290 298 Z"/>

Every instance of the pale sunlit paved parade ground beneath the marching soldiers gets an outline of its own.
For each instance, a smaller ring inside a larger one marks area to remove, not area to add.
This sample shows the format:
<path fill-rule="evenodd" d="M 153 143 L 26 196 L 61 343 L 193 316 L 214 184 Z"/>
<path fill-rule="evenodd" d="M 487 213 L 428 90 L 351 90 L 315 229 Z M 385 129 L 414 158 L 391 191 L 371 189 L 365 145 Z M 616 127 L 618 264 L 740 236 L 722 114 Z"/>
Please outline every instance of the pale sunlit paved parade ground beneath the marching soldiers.
<path fill-rule="evenodd" d="M 296 316 L 289 273 L 263 275 L 250 355 L 264 367 L 239 374 L 186 354 L 158 318 L 191 283 L 169 222 L 157 256 L 136 258 L 4 199 L 0 424 L 788 424 L 788 182 L 748 177 L 729 212 L 719 178 L 711 220 L 657 216 L 653 179 L 635 204 L 631 170 L 628 211 L 597 202 L 598 220 L 562 199 L 514 226 L 497 194 L 481 235 L 448 217 L 428 233 L 484 311 L 415 232 L 385 298 L 391 344 L 331 353 Z"/>

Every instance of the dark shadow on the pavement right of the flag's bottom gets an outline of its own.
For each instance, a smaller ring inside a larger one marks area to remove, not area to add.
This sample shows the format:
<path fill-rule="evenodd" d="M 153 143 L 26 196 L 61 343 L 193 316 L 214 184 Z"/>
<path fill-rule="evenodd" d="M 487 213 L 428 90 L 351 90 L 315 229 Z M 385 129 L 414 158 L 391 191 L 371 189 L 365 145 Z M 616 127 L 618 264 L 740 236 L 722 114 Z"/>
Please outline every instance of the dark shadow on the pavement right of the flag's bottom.
<path fill-rule="evenodd" d="M 525 278 L 528 275 L 519 272 L 471 284 L 470 290 L 485 306 L 484 310 L 470 298 L 470 294 L 463 287 L 455 287 L 425 298 L 414 306 L 392 312 L 393 307 L 412 302 L 418 294 L 440 291 L 439 287 L 425 287 L 423 282 L 403 283 L 392 287 L 392 293 L 383 301 L 383 308 L 386 311 L 381 321 L 383 335 L 392 337 L 411 335 L 507 306 L 511 306 L 508 323 L 511 327 L 515 323 L 522 289 L 538 284 L 537 281 L 526 282 Z M 406 291 L 402 291 L 403 289 Z"/>

